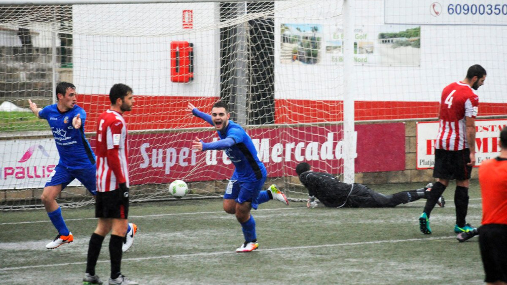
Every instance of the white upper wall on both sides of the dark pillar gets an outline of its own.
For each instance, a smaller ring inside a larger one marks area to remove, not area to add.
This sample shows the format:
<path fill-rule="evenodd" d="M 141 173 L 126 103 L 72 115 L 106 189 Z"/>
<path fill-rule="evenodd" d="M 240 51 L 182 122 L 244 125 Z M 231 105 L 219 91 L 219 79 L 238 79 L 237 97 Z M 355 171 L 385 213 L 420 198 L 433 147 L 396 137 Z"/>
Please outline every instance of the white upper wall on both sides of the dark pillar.
<path fill-rule="evenodd" d="M 294 8 L 275 13 L 275 97 L 342 100 L 343 64 L 331 61 L 325 53 L 325 46 L 342 27 L 342 1 L 281 1 L 275 8 L 291 2 Z M 155 7 L 152 12 L 138 5 L 74 7 L 74 83 L 80 93 L 106 94 L 114 83 L 123 82 L 142 95 L 219 96 L 218 4 L 151 5 Z M 368 32 L 367 40 L 377 40 L 373 36 L 378 31 L 397 28 L 384 24 L 384 0 L 356 0 L 355 7 L 357 34 Z M 186 9 L 194 12 L 192 30 L 182 28 L 182 10 Z M 420 13 L 432 17 L 429 6 Z M 318 64 L 280 63 L 281 23 L 322 27 Z M 112 32 L 117 36 L 108 35 Z M 134 37 L 125 37 L 127 34 Z M 170 82 L 171 40 L 194 43 L 195 80 L 190 84 Z M 506 44 L 506 26 L 423 25 L 419 64 L 388 66 L 380 59 L 380 64 L 356 65 L 355 99 L 439 101 L 446 85 L 463 79 L 470 65 L 481 64 L 488 71 L 485 85 L 477 92 L 481 102 L 504 102 Z"/>

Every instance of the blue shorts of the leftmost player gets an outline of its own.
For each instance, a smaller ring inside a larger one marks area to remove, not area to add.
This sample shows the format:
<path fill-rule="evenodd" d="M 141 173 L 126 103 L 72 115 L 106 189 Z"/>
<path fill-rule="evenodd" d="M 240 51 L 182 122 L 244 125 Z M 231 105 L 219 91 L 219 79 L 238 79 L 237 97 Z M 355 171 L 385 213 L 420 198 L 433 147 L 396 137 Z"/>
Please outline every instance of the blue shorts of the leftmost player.
<path fill-rule="evenodd" d="M 74 179 L 79 180 L 79 182 L 85 185 L 86 189 L 92 193 L 92 195 L 97 194 L 97 184 L 95 173 L 97 172 L 97 167 L 93 164 L 91 167 L 87 169 L 69 169 L 63 167 L 61 165 L 57 165 L 51 175 L 49 176 L 48 181 L 46 182 L 45 187 L 62 185 L 62 190 L 67 187 L 67 185 L 72 182 Z"/>

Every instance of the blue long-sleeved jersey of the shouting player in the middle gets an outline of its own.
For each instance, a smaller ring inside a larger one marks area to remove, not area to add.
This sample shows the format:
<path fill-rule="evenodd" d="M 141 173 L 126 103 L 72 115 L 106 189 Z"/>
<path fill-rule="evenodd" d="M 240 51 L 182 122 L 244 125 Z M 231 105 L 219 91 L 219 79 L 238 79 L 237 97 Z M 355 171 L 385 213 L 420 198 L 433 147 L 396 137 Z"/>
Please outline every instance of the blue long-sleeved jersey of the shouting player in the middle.
<path fill-rule="evenodd" d="M 209 114 L 194 109 L 193 114 L 204 119 L 213 125 L 213 121 Z M 223 132 L 218 132 L 221 140 L 226 138 L 234 140 L 234 144 L 227 148 L 217 147 L 208 149 L 223 149 L 227 157 L 231 159 L 235 166 L 231 180 L 240 182 L 255 182 L 261 178 L 265 178 L 268 174 L 266 167 L 257 156 L 257 149 L 253 145 L 252 139 L 248 134 L 233 121 L 229 120 L 227 128 Z M 220 145 L 215 143 L 207 143 L 207 145 Z"/>

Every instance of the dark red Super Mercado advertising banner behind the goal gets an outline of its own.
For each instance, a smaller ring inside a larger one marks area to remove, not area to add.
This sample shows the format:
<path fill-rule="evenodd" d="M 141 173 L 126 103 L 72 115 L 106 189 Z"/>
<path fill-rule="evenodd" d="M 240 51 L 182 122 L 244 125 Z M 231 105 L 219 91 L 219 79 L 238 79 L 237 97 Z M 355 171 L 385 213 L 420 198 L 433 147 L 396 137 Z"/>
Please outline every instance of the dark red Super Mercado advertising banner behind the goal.
<path fill-rule="evenodd" d="M 356 172 L 405 169 L 405 125 L 403 123 L 355 126 Z M 247 130 L 264 162 L 269 177 L 296 176 L 299 162 L 336 174 L 343 164 L 341 126 L 259 128 Z M 192 150 L 198 137 L 218 140 L 215 131 L 190 131 L 129 135 L 131 184 L 225 180 L 234 170 L 223 151 Z M 94 139 L 91 141 L 94 144 Z"/>

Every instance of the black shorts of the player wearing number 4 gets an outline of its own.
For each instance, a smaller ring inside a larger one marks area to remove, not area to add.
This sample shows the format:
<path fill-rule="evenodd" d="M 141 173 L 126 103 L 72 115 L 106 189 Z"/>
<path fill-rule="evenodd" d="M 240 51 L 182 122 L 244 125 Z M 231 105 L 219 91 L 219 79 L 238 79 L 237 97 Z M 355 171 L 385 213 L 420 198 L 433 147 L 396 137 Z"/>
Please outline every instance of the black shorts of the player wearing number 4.
<path fill-rule="evenodd" d="M 470 149 L 445 150 L 435 149 L 435 166 L 433 177 L 448 180 L 470 179 L 472 167 L 466 164 L 470 162 Z"/>

